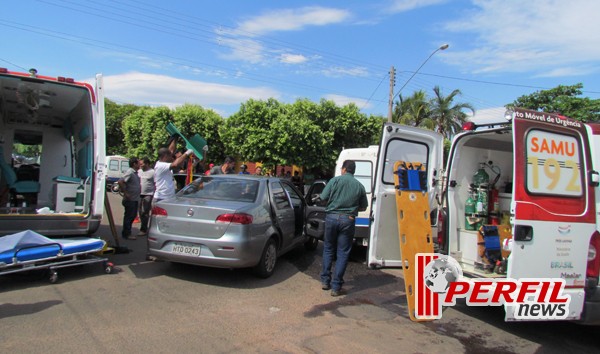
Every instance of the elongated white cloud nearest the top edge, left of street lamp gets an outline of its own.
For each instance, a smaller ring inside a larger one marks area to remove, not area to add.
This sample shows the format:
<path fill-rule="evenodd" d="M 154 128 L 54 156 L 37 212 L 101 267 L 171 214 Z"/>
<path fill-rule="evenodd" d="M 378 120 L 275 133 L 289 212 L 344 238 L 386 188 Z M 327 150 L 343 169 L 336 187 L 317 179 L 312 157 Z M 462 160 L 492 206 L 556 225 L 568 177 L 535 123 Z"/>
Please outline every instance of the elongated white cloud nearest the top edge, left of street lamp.
<path fill-rule="evenodd" d="M 273 10 L 239 24 L 238 34 L 264 35 L 277 31 L 297 31 L 307 26 L 325 26 L 350 18 L 350 12 L 320 6 Z"/>

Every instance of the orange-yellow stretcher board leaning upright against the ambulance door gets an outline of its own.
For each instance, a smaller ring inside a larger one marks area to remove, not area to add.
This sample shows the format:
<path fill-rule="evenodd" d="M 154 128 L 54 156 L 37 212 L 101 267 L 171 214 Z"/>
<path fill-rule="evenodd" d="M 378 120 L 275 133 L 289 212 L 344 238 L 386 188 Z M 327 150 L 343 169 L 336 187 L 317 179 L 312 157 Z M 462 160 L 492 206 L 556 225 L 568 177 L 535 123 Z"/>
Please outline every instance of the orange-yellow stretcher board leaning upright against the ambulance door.
<path fill-rule="evenodd" d="M 400 173 L 398 173 L 399 169 Z M 411 172 L 408 173 L 409 171 Z M 433 239 L 427 188 L 414 188 L 415 183 L 410 183 L 409 187 L 406 180 L 409 178 L 408 175 L 416 176 L 417 171 L 425 171 L 424 165 L 420 162 L 396 161 L 394 163 L 396 219 L 398 220 L 398 237 L 400 239 L 400 255 L 403 260 L 408 313 L 413 321 L 426 321 L 415 317 L 414 261 L 417 253 L 433 253 Z M 415 182 L 415 180 L 412 179 L 411 182 Z"/>

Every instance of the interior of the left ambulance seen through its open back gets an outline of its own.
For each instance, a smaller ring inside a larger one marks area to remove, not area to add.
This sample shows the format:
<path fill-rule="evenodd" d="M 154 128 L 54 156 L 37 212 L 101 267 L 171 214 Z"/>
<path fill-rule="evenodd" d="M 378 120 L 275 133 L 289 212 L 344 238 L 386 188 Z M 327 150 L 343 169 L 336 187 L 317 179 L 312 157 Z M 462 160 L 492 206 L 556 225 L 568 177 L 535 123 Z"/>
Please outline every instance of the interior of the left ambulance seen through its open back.
<path fill-rule="evenodd" d="M 0 217 L 89 210 L 92 121 L 87 89 L 0 74 Z"/>

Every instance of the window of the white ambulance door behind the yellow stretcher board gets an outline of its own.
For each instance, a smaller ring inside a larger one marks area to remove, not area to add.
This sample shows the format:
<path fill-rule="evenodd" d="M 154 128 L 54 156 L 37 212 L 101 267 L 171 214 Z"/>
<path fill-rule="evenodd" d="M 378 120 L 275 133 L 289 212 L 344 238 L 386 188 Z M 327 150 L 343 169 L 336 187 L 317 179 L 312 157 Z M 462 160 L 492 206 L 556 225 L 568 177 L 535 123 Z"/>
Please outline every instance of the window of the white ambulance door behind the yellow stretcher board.
<path fill-rule="evenodd" d="M 429 147 L 427 144 L 404 139 L 392 139 L 385 148 L 383 183 L 394 184 L 394 163 L 396 161 L 420 162 L 429 168 Z"/>

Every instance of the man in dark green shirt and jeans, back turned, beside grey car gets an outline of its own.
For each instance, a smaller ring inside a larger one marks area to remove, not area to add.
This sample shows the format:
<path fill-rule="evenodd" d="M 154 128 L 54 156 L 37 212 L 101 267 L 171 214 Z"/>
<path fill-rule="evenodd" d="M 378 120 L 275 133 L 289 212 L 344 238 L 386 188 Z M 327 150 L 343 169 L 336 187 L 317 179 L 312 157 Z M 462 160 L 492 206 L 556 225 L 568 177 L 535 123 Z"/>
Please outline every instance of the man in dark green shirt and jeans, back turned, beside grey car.
<path fill-rule="evenodd" d="M 325 236 L 323 246 L 323 269 L 321 288 L 331 289 L 331 296 L 341 294 L 344 273 L 352 250 L 354 222 L 359 211 L 367 209 L 365 187 L 356 178 L 356 163 L 346 160 L 342 164 L 342 174 L 327 183 L 320 199 L 327 201 L 325 212 Z M 333 280 L 331 267 L 335 260 Z"/>

